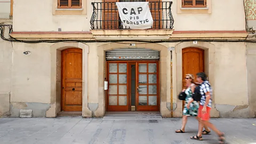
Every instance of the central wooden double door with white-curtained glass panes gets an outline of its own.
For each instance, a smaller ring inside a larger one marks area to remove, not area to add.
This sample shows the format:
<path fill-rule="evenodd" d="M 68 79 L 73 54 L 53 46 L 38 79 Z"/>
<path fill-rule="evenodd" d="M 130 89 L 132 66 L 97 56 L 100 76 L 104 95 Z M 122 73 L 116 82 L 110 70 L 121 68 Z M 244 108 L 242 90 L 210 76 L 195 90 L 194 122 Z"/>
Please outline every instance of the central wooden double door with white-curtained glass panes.
<path fill-rule="evenodd" d="M 108 61 L 107 71 L 107 111 L 159 110 L 158 61 Z"/>

